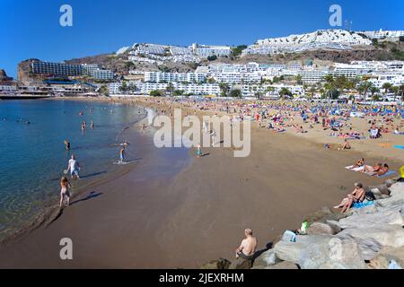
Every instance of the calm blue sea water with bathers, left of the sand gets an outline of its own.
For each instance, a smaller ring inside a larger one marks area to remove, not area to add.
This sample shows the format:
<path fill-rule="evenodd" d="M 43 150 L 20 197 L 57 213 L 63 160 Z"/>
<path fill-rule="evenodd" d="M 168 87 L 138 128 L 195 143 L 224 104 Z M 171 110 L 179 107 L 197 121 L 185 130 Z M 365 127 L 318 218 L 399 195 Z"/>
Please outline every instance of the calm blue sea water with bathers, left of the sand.
<path fill-rule="evenodd" d="M 119 159 L 119 147 L 113 143 L 122 143 L 125 128 L 142 117 L 143 109 L 123 104 L 0 100 L 0 237 L 57 202 L 59 179 L 72 153 L 83 166 L 83 179 L 74 187 L 117 169 L 113 161 Z"/>

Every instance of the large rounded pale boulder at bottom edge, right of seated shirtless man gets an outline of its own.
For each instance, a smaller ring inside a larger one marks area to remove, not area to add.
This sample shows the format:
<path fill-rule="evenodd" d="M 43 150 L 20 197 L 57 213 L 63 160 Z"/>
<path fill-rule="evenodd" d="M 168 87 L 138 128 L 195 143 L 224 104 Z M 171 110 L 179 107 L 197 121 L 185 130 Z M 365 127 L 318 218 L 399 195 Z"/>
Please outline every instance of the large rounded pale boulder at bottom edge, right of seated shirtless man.
<path fill-rule="evenodd" d="M 296 242 L 278 242 L 275 252 L 278 258 L 293 262 L 302 269 L 329 266 L 347 269 L 365 267 L 356 242 L 352 239 L 338 239 L 335 236 L 298 236 Z"/>

